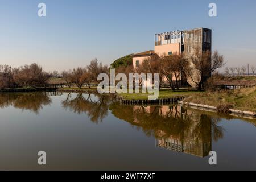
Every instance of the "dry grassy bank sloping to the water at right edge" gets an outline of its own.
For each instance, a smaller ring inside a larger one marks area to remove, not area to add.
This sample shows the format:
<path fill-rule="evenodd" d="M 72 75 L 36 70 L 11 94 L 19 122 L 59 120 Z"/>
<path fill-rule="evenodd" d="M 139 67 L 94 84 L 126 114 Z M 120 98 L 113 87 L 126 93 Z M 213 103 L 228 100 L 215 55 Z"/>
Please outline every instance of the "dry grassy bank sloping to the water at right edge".
<path fill-rule="evenodd" d="M 256 87 L 217 92 L 193 93 L 185 102 L 220 106 L 232 105 L 233 109 L 256 112 Z"/>

